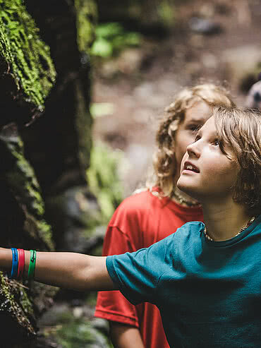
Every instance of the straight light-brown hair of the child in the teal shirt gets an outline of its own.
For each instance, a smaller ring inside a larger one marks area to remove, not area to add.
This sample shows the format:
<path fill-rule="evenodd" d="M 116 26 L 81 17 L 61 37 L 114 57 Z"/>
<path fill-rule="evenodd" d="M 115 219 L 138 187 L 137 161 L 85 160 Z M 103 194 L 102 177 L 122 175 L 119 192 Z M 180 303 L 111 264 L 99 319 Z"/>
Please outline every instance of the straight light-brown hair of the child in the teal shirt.
<path fill-rule="evenodd" d="M 229 148 L 240 166 L 233 199 L 250 215 L 261 212 L 261 113 L 257 109 L 215 107 L 213 116 L 221 150 Z M 228 155 L 229 157 L 229 155 Z"/>

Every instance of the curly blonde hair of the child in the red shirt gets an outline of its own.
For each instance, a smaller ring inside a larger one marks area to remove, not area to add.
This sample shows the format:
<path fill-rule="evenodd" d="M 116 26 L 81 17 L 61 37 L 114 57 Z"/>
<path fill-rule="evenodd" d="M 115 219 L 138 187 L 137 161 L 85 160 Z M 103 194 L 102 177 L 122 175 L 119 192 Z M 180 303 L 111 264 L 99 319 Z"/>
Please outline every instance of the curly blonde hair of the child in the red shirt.
<path fill-rule="evenodd" d="M 206 102 L 211 107 L 215 105 L 235 106 L 229 91 L 212 83 L 181 90 L 176 95 L 174 102 L 164 109 L 163 119 L 159 124 L 156 136 L 157 150 L 153 158 L 154 177 L 146 182 L 146 187 L 150 191 L 157 186 L 161 191 L 161 196 L 171 197 L 174 191 L 174 176 L 177 171 L 175 133 L 185 117 L 186 110 L 198 102 Z"/>

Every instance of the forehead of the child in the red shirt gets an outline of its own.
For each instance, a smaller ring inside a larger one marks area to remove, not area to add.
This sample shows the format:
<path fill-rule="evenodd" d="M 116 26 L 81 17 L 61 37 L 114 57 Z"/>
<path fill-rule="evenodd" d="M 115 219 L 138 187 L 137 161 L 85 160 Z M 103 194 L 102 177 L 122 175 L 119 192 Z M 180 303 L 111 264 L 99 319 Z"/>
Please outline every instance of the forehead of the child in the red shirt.
<path fill-rule="evenodd" d="M 196 102 L 192 107 L 186 109 L 184 122 L 195 122 L 204 124 L 212 115 L 212 107 L 206 102 Z"/>

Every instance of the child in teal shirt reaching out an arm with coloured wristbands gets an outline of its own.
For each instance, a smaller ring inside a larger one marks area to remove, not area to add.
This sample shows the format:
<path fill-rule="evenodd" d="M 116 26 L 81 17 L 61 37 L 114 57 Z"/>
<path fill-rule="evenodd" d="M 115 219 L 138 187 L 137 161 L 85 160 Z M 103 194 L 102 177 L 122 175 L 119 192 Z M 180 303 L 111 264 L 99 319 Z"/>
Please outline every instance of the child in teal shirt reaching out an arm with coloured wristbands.
<path fill-rule="evenodd" d="M 107 258 L 1 248 L 0 266 L 12 277 L 150 301 L 174 348 L 259 348 L 260 113 L 214 108 L 187 148 L 178 188 L 200 201 L 205 224 L 188 222 L 150 248 Z"/>

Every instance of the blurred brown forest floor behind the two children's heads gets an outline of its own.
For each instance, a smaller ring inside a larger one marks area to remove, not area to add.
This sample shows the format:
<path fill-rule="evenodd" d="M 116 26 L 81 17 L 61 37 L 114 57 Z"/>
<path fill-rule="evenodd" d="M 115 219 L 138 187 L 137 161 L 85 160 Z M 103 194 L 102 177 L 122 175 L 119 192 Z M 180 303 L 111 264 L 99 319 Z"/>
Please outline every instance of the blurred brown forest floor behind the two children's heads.
<path fill-rule="evenodd" d="M 123 152 L 124 196 L 144 180 L 157 124 L 176 92 L 202 82 L 225 84 L 243 106 L 257 77 L 260 0 L 195 0 L 174 11 L 169 35 L 144 37 L 140 47 L 95 67 L 92 101 L 110 107 L 95 118 L 94 140 Z"/>

